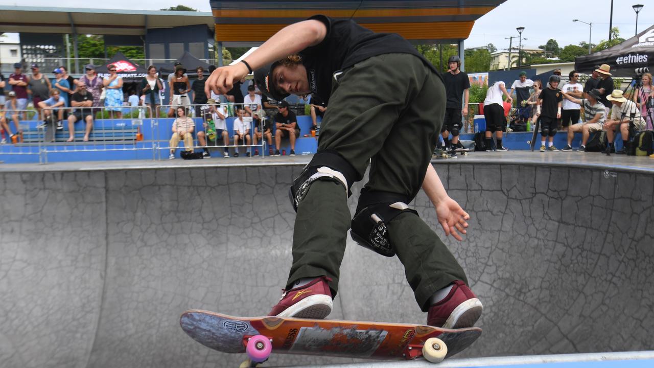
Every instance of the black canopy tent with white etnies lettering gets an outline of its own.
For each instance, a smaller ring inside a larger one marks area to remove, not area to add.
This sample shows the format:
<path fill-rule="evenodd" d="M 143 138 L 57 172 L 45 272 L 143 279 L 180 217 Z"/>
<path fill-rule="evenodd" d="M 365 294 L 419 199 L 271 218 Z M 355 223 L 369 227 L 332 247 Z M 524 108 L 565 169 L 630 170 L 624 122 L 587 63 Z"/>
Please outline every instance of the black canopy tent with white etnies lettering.
<path fill-rule="evenodd" d="M 577 56 L 575 69 L 590 73 L 594 65 L 608 64 L 617 77 L 634 77 L 634 69 L 649 67 L 654 62 L 654 26 L 625 42 L 594 54 Z"/>

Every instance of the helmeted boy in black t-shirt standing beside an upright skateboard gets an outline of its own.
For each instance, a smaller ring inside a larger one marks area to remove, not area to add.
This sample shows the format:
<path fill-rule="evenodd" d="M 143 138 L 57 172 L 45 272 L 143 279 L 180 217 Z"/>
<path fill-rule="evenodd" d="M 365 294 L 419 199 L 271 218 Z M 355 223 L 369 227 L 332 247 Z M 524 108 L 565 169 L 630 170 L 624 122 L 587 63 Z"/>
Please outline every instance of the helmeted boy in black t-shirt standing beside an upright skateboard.
<path fill-rule="evenodd" d="M 554 147 L 554 136 L 557 134 L 559 127 L 559 119 L 561 119 L 561 103 L 563 95 L 559 89 L 561 77 L 558 75 L 550 75 L 547 87 L 543 88 L 538 96 L 538 104 L 540 105 L 540 151 L 545 152 L 545 138 L 549 136 L 549 151 L 559 151 Z"/>

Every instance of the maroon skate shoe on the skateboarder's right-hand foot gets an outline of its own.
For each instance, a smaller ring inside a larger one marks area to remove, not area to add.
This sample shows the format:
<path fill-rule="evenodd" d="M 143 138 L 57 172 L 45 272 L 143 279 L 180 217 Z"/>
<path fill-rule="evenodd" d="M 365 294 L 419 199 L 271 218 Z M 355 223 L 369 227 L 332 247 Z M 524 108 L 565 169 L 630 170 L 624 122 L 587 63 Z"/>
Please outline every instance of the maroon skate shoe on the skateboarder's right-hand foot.
<path fill-rule="evenodd" d="M 429 308 L 427 324 L 447 329 L 472 327 L 479 320 L 483 308 L 470 287 L 456 280 L 447 297 Z"/>

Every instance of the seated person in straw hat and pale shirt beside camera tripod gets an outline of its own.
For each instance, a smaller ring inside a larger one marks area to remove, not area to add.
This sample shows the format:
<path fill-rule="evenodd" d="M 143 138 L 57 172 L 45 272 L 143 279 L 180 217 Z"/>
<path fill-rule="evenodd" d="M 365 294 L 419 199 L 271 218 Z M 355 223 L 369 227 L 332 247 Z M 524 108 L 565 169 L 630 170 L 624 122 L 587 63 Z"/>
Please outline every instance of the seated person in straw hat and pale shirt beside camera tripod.
<path fill-rule="evenodd" d="M 613 148 L 613 140 L 615 139 L 615 128 L 620 127 L 622 133 L 622 149 L 616 153 L 624 155 L 627 153 L 627 142 L 629 140 L 629 124 L 633 122 L 636 130 L 645 128 L 645 120 L 643 120 L 638 106 L 634 101 L 629 101 L 621 90 L 613 90 L 606 99 L 611 101 L 611 119 L 606 120 L 604 129 L 606 129 L 606 138 L 609 141 L 609 146 L 606 148 L 608 152 Z M 604 152 L 606 153 L 606 151 Z"/>

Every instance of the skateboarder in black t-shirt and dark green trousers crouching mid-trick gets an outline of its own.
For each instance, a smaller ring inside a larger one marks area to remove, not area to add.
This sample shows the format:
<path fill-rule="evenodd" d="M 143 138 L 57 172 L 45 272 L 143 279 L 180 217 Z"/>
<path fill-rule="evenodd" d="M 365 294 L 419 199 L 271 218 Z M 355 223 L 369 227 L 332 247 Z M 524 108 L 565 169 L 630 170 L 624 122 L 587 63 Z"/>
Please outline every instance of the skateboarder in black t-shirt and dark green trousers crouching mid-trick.
<path fill-rule="evenodd" d="M 216 69 L 207 92 L 224 93 L 253 69 L 273 100 L 316 94 L 330 106 L 318 151 L 290 189 L 297 212 L 293 263 L 270 315 L 330 314 L 352 227 L 362 246 L 402 261 L 428 324 L 472 326 L 483 307 L 464 270 L 407 206 L 422 185 L 445 234 L 460 240 L 466 233 L 470 217 L 430 164 L 445 115 L 445 88 L 433 65 L 399 35 L 317 15 L 281 29 L 243 62 Z M 347 196 L 370 160 L 351 221 Z"/>

